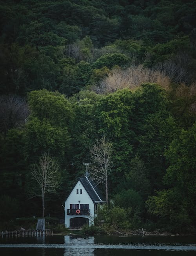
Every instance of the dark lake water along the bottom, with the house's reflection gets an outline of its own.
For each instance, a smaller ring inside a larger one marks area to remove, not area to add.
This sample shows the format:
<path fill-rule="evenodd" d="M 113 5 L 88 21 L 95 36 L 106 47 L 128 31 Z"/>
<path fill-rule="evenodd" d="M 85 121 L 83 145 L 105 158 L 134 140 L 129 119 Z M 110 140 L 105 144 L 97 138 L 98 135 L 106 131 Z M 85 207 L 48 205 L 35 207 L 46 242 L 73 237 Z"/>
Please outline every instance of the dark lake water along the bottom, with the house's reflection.
<path fill-rule="evenodd" d="M 0 238 L 0 256 L 195 256 L 195 236 Z"/>

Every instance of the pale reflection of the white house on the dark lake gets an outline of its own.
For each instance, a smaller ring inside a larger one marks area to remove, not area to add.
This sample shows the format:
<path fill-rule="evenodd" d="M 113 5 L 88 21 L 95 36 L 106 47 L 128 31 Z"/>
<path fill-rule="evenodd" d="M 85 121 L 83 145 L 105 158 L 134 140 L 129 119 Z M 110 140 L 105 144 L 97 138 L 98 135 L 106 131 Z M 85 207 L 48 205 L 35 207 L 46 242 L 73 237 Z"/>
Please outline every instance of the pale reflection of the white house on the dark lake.
<path fill-rule="evenodd" d="M 65 246 L 74 245 L 74 248 L 65 248 L 64 256 L 77 255 L 77 256 L 94 256 L 94 248 L 81 248 L 81 247 L 93 247 L 94 236 L 85 238 L 75 237 L 71 235 L 65 236 Z"/>

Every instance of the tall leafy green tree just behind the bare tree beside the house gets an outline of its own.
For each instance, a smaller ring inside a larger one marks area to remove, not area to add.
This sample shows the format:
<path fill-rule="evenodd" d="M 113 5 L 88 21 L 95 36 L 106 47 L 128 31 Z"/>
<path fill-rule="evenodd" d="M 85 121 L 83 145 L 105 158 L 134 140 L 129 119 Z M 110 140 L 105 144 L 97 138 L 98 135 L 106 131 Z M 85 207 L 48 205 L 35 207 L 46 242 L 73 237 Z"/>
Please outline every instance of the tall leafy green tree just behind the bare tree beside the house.
<path fill-rule="evenodd" d="M 129 166 L 132 153 L 131 127 L 134 99 L 128 89 L 102 96 L 96 104 L 96 127 L 100 135 L 105 135 L 113 142 L 113 186 L 119 173 Z"/>

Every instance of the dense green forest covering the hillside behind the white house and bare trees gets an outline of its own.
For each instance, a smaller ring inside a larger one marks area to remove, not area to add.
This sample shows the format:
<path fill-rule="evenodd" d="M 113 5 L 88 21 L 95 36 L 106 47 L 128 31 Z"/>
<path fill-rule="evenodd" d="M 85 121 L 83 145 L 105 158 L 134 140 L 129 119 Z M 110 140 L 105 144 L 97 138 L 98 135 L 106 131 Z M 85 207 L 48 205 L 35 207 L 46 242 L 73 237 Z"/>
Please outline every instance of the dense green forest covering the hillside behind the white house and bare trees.
<path fill-rule="evenodd" d="M 64 218 L 104 136 L 105 214 L 195 232 L 196 1 L 1 0 L 0 31 L 0 220 L 41 216 L 32 168 L 44 153 L 60 176 L 45 216 Z"/>

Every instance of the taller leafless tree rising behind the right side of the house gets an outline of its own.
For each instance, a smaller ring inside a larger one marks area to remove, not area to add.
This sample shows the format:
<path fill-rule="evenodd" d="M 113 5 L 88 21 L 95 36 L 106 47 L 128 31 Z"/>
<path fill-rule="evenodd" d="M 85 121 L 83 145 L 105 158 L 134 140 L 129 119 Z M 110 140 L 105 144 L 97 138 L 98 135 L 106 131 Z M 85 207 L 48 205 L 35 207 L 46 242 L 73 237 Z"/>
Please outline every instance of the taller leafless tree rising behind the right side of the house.
<path fill-rule="evenodd" d="M 112 143 L 105 140 L 103 136 L 100 141 L 90 149 L 93 164 L 89 168 L 91 180 L 96 185 L 102 183 L 105 186 L 106 203 L 108 204 L 108 176 L 113 163 L 111 162 Z"/>

